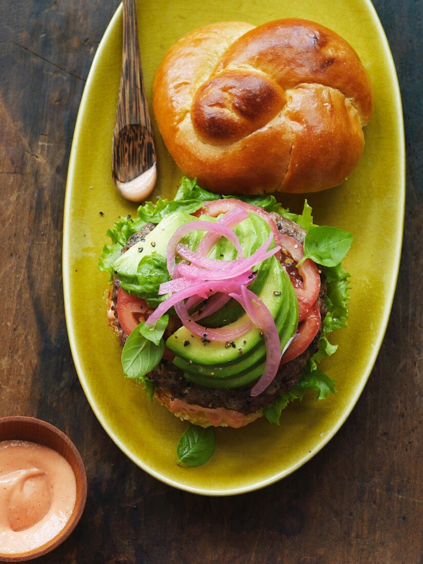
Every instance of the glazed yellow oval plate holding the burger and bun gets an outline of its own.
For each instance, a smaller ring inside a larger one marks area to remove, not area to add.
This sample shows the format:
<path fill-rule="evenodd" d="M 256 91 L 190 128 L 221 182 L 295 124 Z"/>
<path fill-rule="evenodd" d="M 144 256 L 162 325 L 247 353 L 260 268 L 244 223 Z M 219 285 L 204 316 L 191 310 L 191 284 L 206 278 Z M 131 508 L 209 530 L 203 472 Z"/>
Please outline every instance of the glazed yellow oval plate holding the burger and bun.
<path fill-rule="evenodd" d="M 263 417 L 244 429 L 218 429 L 217 447 L 199 468 L 180 468 L 175 447 L 186 424 L 142 386 L 126 380 L 120 347 L 107 325 L 107 276 L 98 255 L 119 215 L 135 213 L 111 177 L 111 146 L 120 81 L 122 13 L 119 8 L 96 52 L 82 96 L 70 156 L 64 214 L 63 280 L 69 341 L 83 390 L 95 415 L 135 464 L 171 486 L 205 495 L 232 495 L 284 478 L 315 455 L 340 428 L 362 393 L 384 337 L 393 301 L 404 214 L 404 139 L 398 82 L 384 31 L 368 0 L 143 0 L 138 24 L 146 90 L 166 50 L 184 33 L 218 20 L 253 24 L 304 17 L 336 30 L 355 47 L 370 73 L 375 111 L 365 129 L 358 168 L 341 187 L 311 195 L 315 222 L 351 231 L 345 266 L 351 272 L 350 324 L 321 368 L 337 393 L 316 402 L 306 395 L 283 412 L 280 426 Z M 151 107 L 151 106 L 150 106 Z M 160 175 L 156 193 L 171 199 L 180 171 L 156 130 Z M 303 198 L 280 200 L 293 210 Z"/>

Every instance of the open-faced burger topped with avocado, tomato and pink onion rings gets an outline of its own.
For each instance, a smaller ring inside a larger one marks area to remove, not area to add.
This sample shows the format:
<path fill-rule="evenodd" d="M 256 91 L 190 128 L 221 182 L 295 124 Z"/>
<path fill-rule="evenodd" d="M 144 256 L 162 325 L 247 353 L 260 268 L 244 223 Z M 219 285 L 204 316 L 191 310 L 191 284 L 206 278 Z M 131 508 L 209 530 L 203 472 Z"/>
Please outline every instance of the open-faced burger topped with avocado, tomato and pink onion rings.
<path fill-rule="evenodd" d="M 240 428 L 334 381 L 318 362 L 347 324 L 350 233 L 274 196 L 222 197 L 184 177 L 173 201 L 119 219 L 99 260 L 126 377 L 182 420 Z"/>

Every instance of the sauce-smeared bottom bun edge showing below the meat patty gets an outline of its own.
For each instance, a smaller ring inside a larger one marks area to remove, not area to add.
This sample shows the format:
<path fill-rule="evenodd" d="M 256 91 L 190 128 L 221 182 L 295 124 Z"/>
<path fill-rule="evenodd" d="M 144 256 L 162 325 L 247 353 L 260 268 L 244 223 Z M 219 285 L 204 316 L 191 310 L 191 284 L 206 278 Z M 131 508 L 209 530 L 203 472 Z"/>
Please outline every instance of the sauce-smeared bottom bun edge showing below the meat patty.
<path fill-rule="evenodd" d="M 244 415 L 244 413 L 223 407 L 209 409 L 208 407 L 196 406 L 186 403 L 182 399 L 173 398 L 168 391 L 160 387 L 155 388 L 154 395 L 162 406 L 167 407 L 181 421 L 190 421 L 193 425 L 199 425 L 200 427 L 210 427 L 213 425 L 214 427 L 239 429 L 263 415 L 262 411 Z"/>

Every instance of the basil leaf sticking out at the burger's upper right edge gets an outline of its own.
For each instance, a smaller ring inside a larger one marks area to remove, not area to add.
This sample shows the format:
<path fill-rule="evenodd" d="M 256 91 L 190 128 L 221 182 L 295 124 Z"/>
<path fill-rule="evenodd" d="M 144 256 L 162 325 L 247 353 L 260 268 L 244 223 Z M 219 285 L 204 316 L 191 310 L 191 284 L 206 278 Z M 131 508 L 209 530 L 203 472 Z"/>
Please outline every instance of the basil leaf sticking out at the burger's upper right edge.
<path fill-rule="evenodd" d="M 313 227 L 306 235 L 304 256 L 297 266 L 306 258 L 322 266 L 337 266 L 350 250 L 351 243 L 352 235 L 348 231 L 325 225 Z"/>

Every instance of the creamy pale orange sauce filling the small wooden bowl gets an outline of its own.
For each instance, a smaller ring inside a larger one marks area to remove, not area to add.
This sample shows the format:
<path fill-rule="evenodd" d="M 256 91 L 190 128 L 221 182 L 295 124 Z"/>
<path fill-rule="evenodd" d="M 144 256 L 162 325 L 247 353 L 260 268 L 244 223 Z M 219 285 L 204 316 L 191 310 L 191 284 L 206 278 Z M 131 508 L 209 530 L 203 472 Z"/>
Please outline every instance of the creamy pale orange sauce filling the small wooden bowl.
<path fill-rule="evenodd" d="M 0 442 L 0 554 L 41 547 L 69 521 L 72 468 L 58 452 L 22 440 Z"/>

